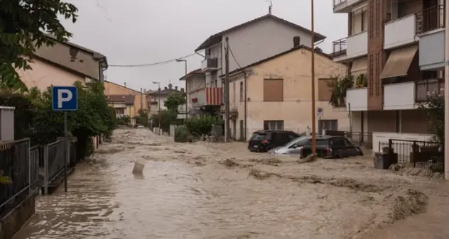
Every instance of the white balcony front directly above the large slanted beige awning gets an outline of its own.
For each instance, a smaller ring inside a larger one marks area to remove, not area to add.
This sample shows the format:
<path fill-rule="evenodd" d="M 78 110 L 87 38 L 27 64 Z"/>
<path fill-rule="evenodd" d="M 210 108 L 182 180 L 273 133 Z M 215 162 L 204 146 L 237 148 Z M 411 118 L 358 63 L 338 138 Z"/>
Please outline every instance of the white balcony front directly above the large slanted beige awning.
<path fill-rule="evenodd" d="M 418 41 L 416 37 L 416 14 L 404 16 L 386 23 L 384 49 L 397 48 Z"/>

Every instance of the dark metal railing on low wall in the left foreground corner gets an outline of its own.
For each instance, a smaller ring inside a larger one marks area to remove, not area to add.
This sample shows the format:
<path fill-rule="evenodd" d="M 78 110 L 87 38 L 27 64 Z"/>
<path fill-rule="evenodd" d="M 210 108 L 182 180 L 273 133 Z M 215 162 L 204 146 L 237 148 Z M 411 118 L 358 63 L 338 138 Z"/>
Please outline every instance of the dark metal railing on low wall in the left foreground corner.
<path fill-rule="evenodd" d="M 37 189 L 38 160 L 31 157 L 30 146 L 29 138 L 0 143 L 1 215 L 9 213 Z"/>

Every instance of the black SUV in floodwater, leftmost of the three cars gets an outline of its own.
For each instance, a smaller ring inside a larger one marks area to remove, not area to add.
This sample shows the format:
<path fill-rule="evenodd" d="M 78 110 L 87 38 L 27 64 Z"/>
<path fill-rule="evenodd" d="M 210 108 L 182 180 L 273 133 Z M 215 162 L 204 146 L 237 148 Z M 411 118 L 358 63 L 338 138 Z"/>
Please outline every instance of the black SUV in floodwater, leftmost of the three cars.
<path fill-rule="evenodd" d="M 298 137 L 300 135 L 293 131 L 259 130 L 249 138 L 248 149 L 252 152 L 268 152 L 268 150 L 285 145 Z"/>

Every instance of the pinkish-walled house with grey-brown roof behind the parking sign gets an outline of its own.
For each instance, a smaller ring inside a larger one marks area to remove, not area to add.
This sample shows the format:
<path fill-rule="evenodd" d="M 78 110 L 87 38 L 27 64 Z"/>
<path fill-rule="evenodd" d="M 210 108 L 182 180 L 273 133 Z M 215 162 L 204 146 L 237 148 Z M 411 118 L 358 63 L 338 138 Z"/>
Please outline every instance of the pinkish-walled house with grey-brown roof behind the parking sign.
<path fill-rule="evenodd" d="M 108 67 L 104 55 L 70 42 L 42 45 L 33 57 L 33 69 L 18 70 L 18 74 L 28 89 L 38 87 L 41 91 L 50 85 L 68 86 L 77 81 L 102 82 Z"/>

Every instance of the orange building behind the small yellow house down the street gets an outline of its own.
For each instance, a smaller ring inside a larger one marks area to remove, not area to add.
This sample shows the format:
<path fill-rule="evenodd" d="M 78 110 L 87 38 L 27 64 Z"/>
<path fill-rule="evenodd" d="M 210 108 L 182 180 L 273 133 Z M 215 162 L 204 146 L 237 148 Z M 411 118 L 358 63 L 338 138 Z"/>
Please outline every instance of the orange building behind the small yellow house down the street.
<path fill-rule="evenodd" d="M 126 83 L 124 83 L 124 85 L 120 85 L 114 82 L 104 81 L 104 94 L 107 96 L 116 95 L 118 97 L 124 95 L 133 95 L 134 111 L 130 115 L 131 118 L 136 116 L 136 114 L 139 113 L 140 109 L 148 110 L 148 104 L 146 103 L 146 94 L 144 94 L 143 90 L 136 91 L 135 89 L 126 87 Z"/>

